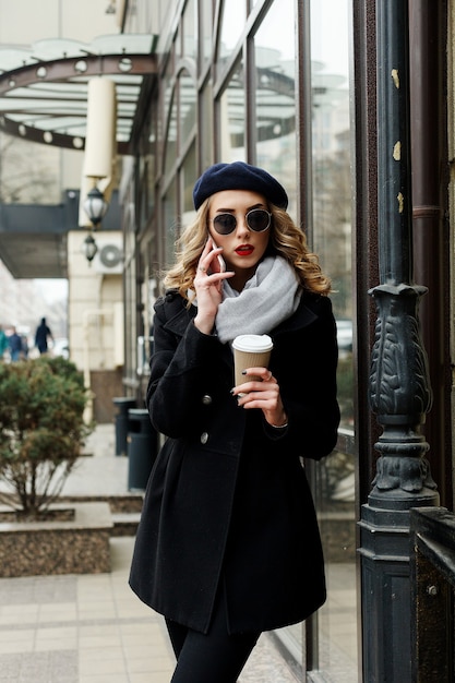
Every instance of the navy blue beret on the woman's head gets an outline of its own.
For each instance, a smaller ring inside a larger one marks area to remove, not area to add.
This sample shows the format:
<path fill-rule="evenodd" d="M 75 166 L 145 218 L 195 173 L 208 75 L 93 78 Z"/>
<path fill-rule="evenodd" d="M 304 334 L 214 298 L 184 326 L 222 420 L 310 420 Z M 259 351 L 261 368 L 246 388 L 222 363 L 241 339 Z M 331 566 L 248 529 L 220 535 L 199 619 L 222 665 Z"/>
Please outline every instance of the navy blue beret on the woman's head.
<path fill-rule="evenodd" d="M 194 208 L 197 211 L 207 197 L 223 190 L 251 190 L 263 194 L 275 206 L 287 208 L 288 205 L 285 189 L 273 176 L 258 166 L 234 161 L 215 164 L 202 173 L 193 190 Z"/>

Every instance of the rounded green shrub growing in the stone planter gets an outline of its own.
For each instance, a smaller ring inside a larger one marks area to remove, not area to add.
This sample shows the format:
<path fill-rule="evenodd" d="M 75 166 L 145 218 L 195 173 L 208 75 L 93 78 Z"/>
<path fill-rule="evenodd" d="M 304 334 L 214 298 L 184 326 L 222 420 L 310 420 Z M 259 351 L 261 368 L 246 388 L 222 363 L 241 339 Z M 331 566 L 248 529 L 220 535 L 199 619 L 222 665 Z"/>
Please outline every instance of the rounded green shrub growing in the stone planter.
<path fill-rule="evenodd" d="M 36 518 L 60 494 L 93 429 L 87 400 L 63 358 L 0 363 L 0 500 L 19 515 Z"/>

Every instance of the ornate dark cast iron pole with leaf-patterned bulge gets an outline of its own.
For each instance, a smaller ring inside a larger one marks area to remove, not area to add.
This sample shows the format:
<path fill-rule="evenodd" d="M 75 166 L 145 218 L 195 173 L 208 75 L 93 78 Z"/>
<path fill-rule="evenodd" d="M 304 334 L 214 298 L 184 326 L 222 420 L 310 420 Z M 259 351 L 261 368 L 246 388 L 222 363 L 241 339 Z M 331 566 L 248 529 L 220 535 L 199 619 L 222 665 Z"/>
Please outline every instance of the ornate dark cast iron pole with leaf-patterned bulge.
<path fill-rule="evenodd" d="M 380 285 L 370 404 L 383 429 L 360 520 L 363 680 L 410 681 L 409 511 L 438 505 L 421 433 L 431 407 L 412 281 L 408 0 L 376 2 Z"/>

